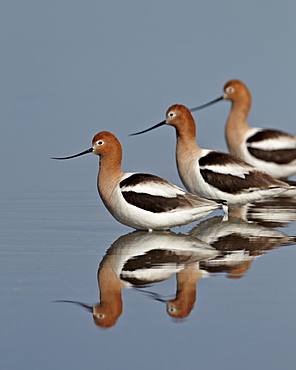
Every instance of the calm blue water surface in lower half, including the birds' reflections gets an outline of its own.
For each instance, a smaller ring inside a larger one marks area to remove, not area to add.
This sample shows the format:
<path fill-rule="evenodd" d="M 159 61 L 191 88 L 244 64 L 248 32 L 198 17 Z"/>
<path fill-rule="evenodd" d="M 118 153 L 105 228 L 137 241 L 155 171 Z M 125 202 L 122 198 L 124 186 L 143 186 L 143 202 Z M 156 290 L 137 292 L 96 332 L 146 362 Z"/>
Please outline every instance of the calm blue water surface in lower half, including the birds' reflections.
<path fill-rule="evenodd" d="M 296 201 L 170 232 L 1 194 L 1 368 L 294 369 Z"/>

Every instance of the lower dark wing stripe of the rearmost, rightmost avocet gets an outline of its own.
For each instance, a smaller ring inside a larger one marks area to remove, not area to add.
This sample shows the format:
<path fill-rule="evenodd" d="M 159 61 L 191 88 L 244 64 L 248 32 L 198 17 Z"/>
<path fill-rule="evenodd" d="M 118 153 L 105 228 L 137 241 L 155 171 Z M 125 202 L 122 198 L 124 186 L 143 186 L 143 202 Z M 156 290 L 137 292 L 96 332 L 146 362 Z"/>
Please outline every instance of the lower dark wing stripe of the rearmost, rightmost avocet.
<path fill-rule="evenodd" d="M 250 154 L 265 162 L 287 164 L 296 159 L 296 149 L 262 150 L 248 147 Z"/>

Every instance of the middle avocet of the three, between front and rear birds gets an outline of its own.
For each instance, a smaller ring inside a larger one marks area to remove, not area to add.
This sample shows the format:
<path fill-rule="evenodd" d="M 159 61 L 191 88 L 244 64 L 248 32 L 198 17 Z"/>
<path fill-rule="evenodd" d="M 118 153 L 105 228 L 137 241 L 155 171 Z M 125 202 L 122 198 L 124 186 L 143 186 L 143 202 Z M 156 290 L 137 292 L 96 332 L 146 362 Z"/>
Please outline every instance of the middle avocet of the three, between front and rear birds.
<path fill-rule="evenodd" d="M 209 199 L 226 199 L 233 207 L 275 196 L 290 188 L 285 182 L 257 170 L 238 157 L 201 149 L 196 144 L 194 119 L 184 105 L 173 105 L 167 110 L 164 121 L 132 135 L 164 124 L 176 129 L 177 167 L 189 192 Z"/>

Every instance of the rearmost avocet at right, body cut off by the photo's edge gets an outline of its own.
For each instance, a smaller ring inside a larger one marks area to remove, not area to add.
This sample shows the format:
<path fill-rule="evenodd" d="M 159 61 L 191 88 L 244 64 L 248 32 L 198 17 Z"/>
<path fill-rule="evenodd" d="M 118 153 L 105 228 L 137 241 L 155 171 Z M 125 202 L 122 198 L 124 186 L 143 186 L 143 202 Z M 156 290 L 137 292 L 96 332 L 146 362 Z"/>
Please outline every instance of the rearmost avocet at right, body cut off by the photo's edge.
<path fill-rule="evenodd" d="M 296 136 L 278 130 L 250 127 L 247 119 L 252 97 L 241 81 L 227 82 L 223 96 L 191 111 L 221 100 L 232 102 L 225 130 L 231 154 L 276 178 L 285 179 L 296 173 Z"/>

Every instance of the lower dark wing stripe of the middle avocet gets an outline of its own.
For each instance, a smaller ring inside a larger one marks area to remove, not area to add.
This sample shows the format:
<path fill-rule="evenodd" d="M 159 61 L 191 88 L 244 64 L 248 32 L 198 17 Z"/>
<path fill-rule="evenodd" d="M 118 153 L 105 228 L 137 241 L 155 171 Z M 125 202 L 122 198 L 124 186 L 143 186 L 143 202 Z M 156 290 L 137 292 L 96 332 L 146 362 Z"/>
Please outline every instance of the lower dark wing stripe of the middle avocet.
<path fill-rule="evenodd" d="M 206 183 L 216 189 L 229 194 L 238 194 L 252 188 L 268 188 L 269 186 L 280 186 L 281 183 L 272 179 L 264 172 L 252 171 L 245 178 L 229 174 L 221 174 L 210 170 L 200 170 Z"/>

